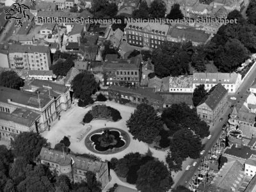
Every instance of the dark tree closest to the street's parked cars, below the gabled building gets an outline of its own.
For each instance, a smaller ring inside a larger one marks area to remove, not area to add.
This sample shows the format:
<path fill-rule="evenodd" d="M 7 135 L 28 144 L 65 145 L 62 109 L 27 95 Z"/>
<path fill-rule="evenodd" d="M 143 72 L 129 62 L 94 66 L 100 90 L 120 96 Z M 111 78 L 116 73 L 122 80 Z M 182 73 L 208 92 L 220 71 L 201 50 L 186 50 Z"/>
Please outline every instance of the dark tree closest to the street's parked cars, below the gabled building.
<path fill-rule="evenodd" d="M 175 154 L 177 157 L 186 159 L 190 157 L 197 159 L 200 157 L 200 151 L 203 150 L 204 146 L 190 129 L 180 129 L 173 134 L 173 138 L 170 142 L 170 151 L 172 155 Z"/>

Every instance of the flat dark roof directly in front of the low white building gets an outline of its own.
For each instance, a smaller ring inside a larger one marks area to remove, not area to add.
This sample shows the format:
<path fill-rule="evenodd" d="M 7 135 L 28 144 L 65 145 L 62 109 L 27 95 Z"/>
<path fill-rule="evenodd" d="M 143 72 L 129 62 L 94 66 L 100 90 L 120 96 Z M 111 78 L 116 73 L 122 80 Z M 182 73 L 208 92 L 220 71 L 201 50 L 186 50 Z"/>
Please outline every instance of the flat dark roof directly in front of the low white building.
<path fill-rule="evenodd" d="M 161 93 L 164 98 L 164 104 L 180 104 L 186 103 L 188 106 L 193 106 L 193 94 L 192 93 Z"/>

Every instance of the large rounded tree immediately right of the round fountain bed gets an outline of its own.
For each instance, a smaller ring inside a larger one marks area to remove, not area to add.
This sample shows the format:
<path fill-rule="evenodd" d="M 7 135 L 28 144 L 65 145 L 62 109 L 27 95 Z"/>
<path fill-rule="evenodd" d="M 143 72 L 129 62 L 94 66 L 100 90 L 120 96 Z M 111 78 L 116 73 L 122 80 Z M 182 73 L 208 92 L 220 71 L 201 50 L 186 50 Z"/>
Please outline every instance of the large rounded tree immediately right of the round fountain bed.
<path fill-rule="evenodd" d="M 148 104 L 140 104 L 126 122 L 133 138 L 146 143 L 157 140 L 159 130 L 163 128 L 161 118 L 155 109 Z"/>

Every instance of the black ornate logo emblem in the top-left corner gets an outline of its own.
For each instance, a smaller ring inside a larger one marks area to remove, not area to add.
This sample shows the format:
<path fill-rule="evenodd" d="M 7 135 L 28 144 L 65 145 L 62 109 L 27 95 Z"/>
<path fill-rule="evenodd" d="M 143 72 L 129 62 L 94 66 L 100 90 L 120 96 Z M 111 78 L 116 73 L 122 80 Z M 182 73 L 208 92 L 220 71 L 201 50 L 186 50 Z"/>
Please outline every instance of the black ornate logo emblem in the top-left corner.
<path fill-rule="evenodd" d="M 13 3 L 12 6 L 5 11 L 5 19 L 16 19 L 15 26 L 20 28 L 24 20 L 29 20 L 29 15 L 26 14 L 27 10 L 29 10 L 29 7 L 25 4 Z"/>

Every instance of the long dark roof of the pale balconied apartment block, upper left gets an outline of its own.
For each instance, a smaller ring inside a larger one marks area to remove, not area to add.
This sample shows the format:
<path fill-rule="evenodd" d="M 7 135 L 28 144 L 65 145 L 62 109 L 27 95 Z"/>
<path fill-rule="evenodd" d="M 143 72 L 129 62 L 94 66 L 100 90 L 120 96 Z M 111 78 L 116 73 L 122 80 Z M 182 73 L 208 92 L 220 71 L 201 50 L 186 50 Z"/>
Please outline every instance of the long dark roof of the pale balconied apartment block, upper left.
<path fill-rule="evenodd" d="M 9 52 L 49 52 L 49 47 L 44 45 L 10 45 Z"/>

